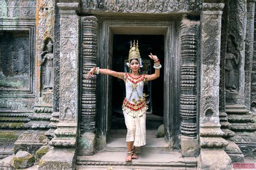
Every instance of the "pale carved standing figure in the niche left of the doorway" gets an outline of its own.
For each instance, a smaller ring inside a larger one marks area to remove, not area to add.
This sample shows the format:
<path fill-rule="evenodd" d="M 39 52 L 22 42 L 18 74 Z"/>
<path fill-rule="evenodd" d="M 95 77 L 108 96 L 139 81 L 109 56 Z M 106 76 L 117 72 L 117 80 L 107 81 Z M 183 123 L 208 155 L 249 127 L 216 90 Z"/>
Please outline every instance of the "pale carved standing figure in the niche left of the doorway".
<path fill-rule="evenodd" d="M 53 44 L 51 41 L 46 45 L 47 51 L 41 53 L 42 85 L 43 89 L 49 91 L 53 87 Z"/>

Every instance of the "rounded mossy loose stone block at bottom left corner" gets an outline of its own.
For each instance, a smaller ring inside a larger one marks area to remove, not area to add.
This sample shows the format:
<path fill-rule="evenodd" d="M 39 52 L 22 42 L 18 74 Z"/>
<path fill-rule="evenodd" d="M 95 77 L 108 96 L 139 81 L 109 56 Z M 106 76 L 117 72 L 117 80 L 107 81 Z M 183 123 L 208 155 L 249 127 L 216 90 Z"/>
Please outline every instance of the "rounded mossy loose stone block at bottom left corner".
<path fill-rule="evenodd" d="M 35 162 L 35 157 L 26 151 L 18 151 L 11 160 L 11 166 L 14 168 L 28 168 Z"/>

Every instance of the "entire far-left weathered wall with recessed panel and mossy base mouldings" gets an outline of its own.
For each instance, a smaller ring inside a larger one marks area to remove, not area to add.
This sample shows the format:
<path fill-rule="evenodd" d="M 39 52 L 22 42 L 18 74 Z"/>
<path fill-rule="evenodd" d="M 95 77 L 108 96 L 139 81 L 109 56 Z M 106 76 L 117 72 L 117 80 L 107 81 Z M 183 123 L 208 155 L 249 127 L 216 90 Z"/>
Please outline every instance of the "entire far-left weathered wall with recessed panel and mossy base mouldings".
<path fill-rule="evenodd" d="M 14 143 L 35 104 L 36 1 L 0 1 L 0 158 Z"/>

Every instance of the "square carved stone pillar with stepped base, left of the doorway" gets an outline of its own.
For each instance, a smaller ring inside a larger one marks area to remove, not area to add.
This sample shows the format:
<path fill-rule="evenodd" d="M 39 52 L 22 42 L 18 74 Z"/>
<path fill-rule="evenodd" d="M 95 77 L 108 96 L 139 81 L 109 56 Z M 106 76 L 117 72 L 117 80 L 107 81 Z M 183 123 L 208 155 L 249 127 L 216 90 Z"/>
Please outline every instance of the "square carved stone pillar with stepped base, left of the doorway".
<path fill-rule="evenodd" d="M 57 3 L 60 13 L 59 123 L 41 168 L 74 168 L 78 132 L 79 3 Z"/>

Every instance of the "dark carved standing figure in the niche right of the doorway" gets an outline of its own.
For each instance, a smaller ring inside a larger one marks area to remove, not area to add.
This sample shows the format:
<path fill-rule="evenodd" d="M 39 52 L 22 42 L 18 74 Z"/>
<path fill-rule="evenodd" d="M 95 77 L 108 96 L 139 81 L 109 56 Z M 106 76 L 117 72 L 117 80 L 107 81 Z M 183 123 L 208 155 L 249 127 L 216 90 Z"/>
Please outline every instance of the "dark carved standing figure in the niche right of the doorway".
<path fill-rule="evenodd" d="M 240 61 L 240 53 L 232 52 L 232 41 L 227 41 L 227 53 L 225 58 L 225 87 L 226 91 L 236 92 L 234 83 L 234 65 L 238 65 Z"/>

